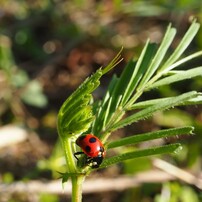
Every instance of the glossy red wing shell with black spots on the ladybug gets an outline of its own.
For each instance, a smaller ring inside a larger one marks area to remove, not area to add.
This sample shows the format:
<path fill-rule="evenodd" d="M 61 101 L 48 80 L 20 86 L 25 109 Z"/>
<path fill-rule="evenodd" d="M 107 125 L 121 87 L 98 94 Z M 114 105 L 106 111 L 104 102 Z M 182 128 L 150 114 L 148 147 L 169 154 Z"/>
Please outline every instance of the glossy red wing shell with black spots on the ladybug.
<path fill-rule="evenodd" d="M 87 134 L 80 136 L 76 144 L 81 147 L 82 151 L 89 157 L 104 157 L 105 151 L 102 142 L 94 135 Z"/>

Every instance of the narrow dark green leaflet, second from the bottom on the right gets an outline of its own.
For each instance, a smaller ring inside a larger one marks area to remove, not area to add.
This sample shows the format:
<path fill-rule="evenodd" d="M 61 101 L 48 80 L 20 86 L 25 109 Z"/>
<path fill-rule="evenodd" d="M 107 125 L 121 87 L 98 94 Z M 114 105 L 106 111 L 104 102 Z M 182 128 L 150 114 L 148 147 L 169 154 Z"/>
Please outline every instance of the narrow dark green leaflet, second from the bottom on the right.
<path fill-rule="evenodd" d="M 171 136 L 178 136 L 184 134 L 192 134 L 194 128 L 191 126 L 172 128 L 160 131 L 153 131 L 144 134 L 136 134 L 130 137 L 121 138 L 120 140 L 110 142 L 106 147 L 107 149 L 125 146 L 128 144 L 137 144 L 143 141 L 154 140 L 158 138 L 167 138 Z"/>

